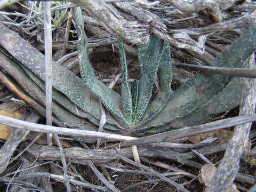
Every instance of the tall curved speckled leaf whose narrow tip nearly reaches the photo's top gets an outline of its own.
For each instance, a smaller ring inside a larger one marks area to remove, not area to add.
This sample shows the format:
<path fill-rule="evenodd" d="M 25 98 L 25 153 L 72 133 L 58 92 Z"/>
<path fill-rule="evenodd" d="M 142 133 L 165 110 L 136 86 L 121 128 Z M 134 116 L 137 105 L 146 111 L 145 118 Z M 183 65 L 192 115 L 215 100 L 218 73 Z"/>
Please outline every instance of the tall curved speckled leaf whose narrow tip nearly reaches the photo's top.
<path fill-rule="evenodd" d="M 88 38 L 84 31 L 83 15 L 80 7 L 74 8 L 74 19 L 76 23 L 76 31 L 78 36 L 78 60 L 80 73 L 84 84 L 96 95 L 102 104 L 110 111 L 110 113 L 121 123 L 124 127 L 129 128 L 130 124 L 124 117 L 121 105 L 120 96 L 113 90 L 109 89 L 105 84 L 101 83 L 95 76 L 93 68 L 89 61 L 88 55 Z"/>

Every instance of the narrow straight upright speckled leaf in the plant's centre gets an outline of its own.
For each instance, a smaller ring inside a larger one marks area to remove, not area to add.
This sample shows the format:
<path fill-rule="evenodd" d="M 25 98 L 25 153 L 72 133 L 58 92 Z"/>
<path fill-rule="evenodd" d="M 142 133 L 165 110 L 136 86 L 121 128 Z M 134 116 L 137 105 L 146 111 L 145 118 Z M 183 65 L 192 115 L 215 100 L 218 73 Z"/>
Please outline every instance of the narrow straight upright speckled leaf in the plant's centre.
<path fill-rule="evenodd" d="M 122 67 L 122 98 L 121 108 L 128 119 L 129 123 L 132 123 L 132 93 L 131 86 L 128 79 L 127 63 L 124 51 L 124 45 L 122 41 L 119 41 L 119 54 Z"/>

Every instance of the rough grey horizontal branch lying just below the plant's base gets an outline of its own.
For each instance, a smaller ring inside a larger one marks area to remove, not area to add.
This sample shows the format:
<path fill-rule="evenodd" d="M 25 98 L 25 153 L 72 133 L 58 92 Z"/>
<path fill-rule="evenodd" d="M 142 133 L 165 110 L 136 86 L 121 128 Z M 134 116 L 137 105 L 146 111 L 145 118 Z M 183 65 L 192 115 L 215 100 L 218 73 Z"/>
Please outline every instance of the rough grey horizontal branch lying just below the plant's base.
<path fill-rule="evenodd" d="M 203 147 L 198 149 L 199 153 L 204 155 L 209 155 L 212 153 L 218 153 L 226 149 L 226 143 L 219 144 L 217 146 L 212 147 Z M 120 150 L 116 149 L 98 149 L 98 150 L 89 150 L 82 149 L 79 147 L 73 148 L 65 148 L 64 154 L 67 161 L 73 163 L 79 163 L 88 165 L 89 161 L 93 161 L 94 163 L 106 163 L 113 161 L 114 159 L 118 159 L 116 156 L 120 154 L 122 156 L 133 158 L 133 153 L 131 148 L 120 148 Z M 58 160 L 60 161 L 60 153 L 57 147 L 44 147 L 33 145 L 31 146 L 27 152 L 38 158 L 39 160 Z M 193 152 L 181 153 L 177 150 L 166 149 L 166 148 L 154 148 L 151 146 L 139 146 L 138 153 L 140 157 L 156 157 L 169 159 L 170 161 L 179 162 L 184 165 L 188 165 L 197 169 L 202 167 L 202 164 L 197 163 L 191 158 L 195 158 L 196 155 Z"/>

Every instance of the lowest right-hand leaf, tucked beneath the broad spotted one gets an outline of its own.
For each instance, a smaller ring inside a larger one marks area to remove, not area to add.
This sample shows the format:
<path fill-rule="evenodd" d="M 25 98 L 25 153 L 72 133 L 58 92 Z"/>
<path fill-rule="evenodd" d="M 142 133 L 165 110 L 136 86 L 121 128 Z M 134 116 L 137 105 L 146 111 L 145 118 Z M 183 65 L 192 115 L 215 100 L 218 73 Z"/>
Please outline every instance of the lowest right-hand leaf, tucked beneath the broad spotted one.
<path fill-rule="evenodd" d="M 196 113 L 189 114 L 184 118 L 175 119 L 173 122 L 162 127 L 154 127 L 150 130 L 145 128 L 138 129 L 135 130 L 133 134 L 143 136 L 145 135 L 145 131 L 147 131 L 147 135 L 157 134 L 170 129 L 179 129 L 184 126 L 201 124 L 217 114 L 235 108 L 240 104 L 241 99 L 242 89 L 239 83 L 239 78 L 234 77 L 218 95 L 202 106 L 202 108 L 196 111 Z"/>

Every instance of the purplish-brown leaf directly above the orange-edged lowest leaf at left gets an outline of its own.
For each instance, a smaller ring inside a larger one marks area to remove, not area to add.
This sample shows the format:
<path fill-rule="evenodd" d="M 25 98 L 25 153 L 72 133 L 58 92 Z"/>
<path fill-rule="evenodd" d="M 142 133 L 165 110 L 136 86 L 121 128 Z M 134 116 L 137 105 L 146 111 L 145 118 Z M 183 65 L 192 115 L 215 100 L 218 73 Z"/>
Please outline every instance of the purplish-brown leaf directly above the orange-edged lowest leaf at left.
<path fill-rule="evenodd" d="M 45 92 L 38 88 L 33 81 L 26 75 L 23 69 L 17 65 L 14 61 L 7 58 L 2 52 L 0 52 L 0 66 L 12 76 L 12 78 L 17 81 L 23 90 L 29 94 L 30 97 L 34 98 L 36 102 L 39 102 L 40 105 L 45 107 Z M 6 77 L 7 78 L 7 77 Z M 17 93 L 16 93 L 17 94 Z M 33 106 L 34 107 L 34 106 Z M 38 107 L 36 107 L 38 110 Z M 44 109 L 40 109 L 39 112 L 42 113 Z M 83 118 L 79 118 L 72 113 L 69 113 L 69 110 L 63 109 L 58 103 L 52 102 L 52 113 L 57 117 L 64 125 L 71 126 L 83 124 L 84 118 L 89 119 L 90 122 L 99 125 L 98 119 L 93 118 L 92 116 L 84 113 Z M 45 114 L 43 114 L 44 116 Z M 82 115 L 82 114 L 81 114 Z M 63 125 L 62 125 L 63 126 Z M 81 127 L 80 127 L 81 128 Z M 117 131 L 117 129 L 111 125 L 106 125 L 106 129 Z"/>

